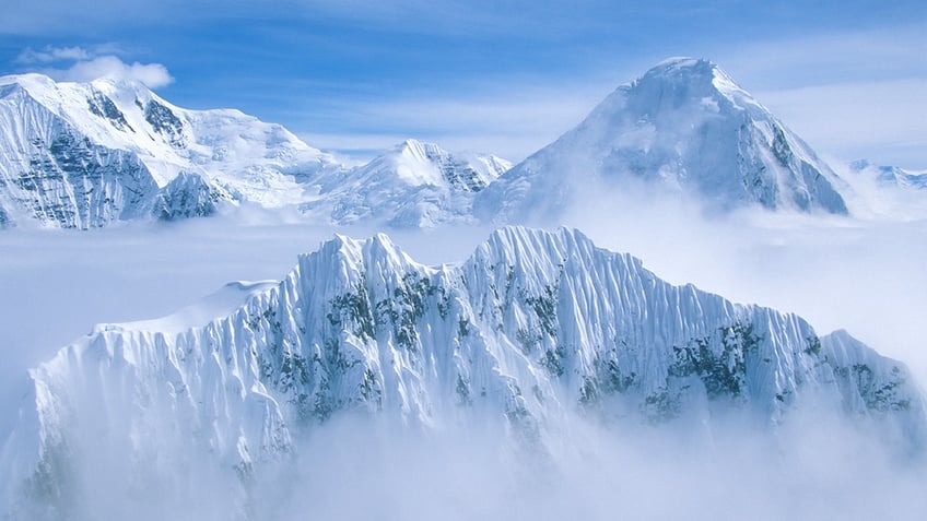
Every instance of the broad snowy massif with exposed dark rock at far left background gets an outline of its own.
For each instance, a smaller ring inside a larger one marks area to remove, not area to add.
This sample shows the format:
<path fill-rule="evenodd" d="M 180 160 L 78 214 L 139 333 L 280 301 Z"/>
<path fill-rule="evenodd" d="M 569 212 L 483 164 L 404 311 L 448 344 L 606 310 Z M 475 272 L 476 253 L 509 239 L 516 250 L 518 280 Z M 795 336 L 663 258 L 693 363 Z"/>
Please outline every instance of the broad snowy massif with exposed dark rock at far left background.
<path fill-rule="evenodd" d="M 237 110 L 186 110 L 139 84 L 38 74 L 0 78 L 0 224 L 68 228 L 202 215 L 221 201 L 293 203 L 302 188 L 292 174 L 339 167 Z"/>

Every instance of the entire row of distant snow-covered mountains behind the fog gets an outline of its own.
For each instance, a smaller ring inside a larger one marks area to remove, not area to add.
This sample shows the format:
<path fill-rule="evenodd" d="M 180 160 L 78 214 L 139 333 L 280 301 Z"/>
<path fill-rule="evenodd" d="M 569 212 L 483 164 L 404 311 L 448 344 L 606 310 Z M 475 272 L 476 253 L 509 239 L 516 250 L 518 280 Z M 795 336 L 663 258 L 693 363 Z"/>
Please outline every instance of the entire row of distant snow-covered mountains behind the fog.
<path fill-rule="evenodd" d="M 0 79 L 0 226 L 169 221 L 245 202 L 339 225 L 525 223 L 641 189 L 685 194 L 712 213 L 846 214 L 856 196 L 720 68 L 692 58 L 618 87 L 515 167 L 415 140 L 348 167 L 237 110 L 187 110 L 139 84 L 38 74 Z M 884 186 L 927 186 L 918 173 L 876 175 Z"/>

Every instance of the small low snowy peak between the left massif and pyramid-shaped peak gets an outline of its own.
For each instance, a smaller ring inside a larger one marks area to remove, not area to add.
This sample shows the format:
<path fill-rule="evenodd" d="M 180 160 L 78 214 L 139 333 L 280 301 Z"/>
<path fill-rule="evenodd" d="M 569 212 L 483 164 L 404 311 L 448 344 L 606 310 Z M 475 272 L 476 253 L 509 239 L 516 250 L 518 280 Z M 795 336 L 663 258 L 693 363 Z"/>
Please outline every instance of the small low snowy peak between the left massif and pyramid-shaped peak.
<path fill-rule="evenodd" d="M 493 155 L 451 154 L 407 140 L 368 164 L 317 180 L 319 198 L 306 213 L 338 224 L 361 221 L 394 227 L 433 227 L 472 221 L 477 192 L 512 167 Z"/>

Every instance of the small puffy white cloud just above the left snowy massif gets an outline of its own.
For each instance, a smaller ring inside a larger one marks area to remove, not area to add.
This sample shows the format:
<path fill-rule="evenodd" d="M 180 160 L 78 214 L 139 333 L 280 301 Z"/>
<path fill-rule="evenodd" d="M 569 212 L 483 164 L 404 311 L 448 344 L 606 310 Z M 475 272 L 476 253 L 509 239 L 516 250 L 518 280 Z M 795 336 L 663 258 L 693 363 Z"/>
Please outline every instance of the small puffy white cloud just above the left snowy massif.
<path fill-rule="evenodd" d="M 167 68 L 161 63 L 127 63 L 116 52 L 118 49 L 113 46 L 46 46 L 38 50 L 27 47 L 15 61 L 58 81 L 87 82 L 107 78 L 143 83 L 150 88 L 159 88 L 174 81 Z"/>

